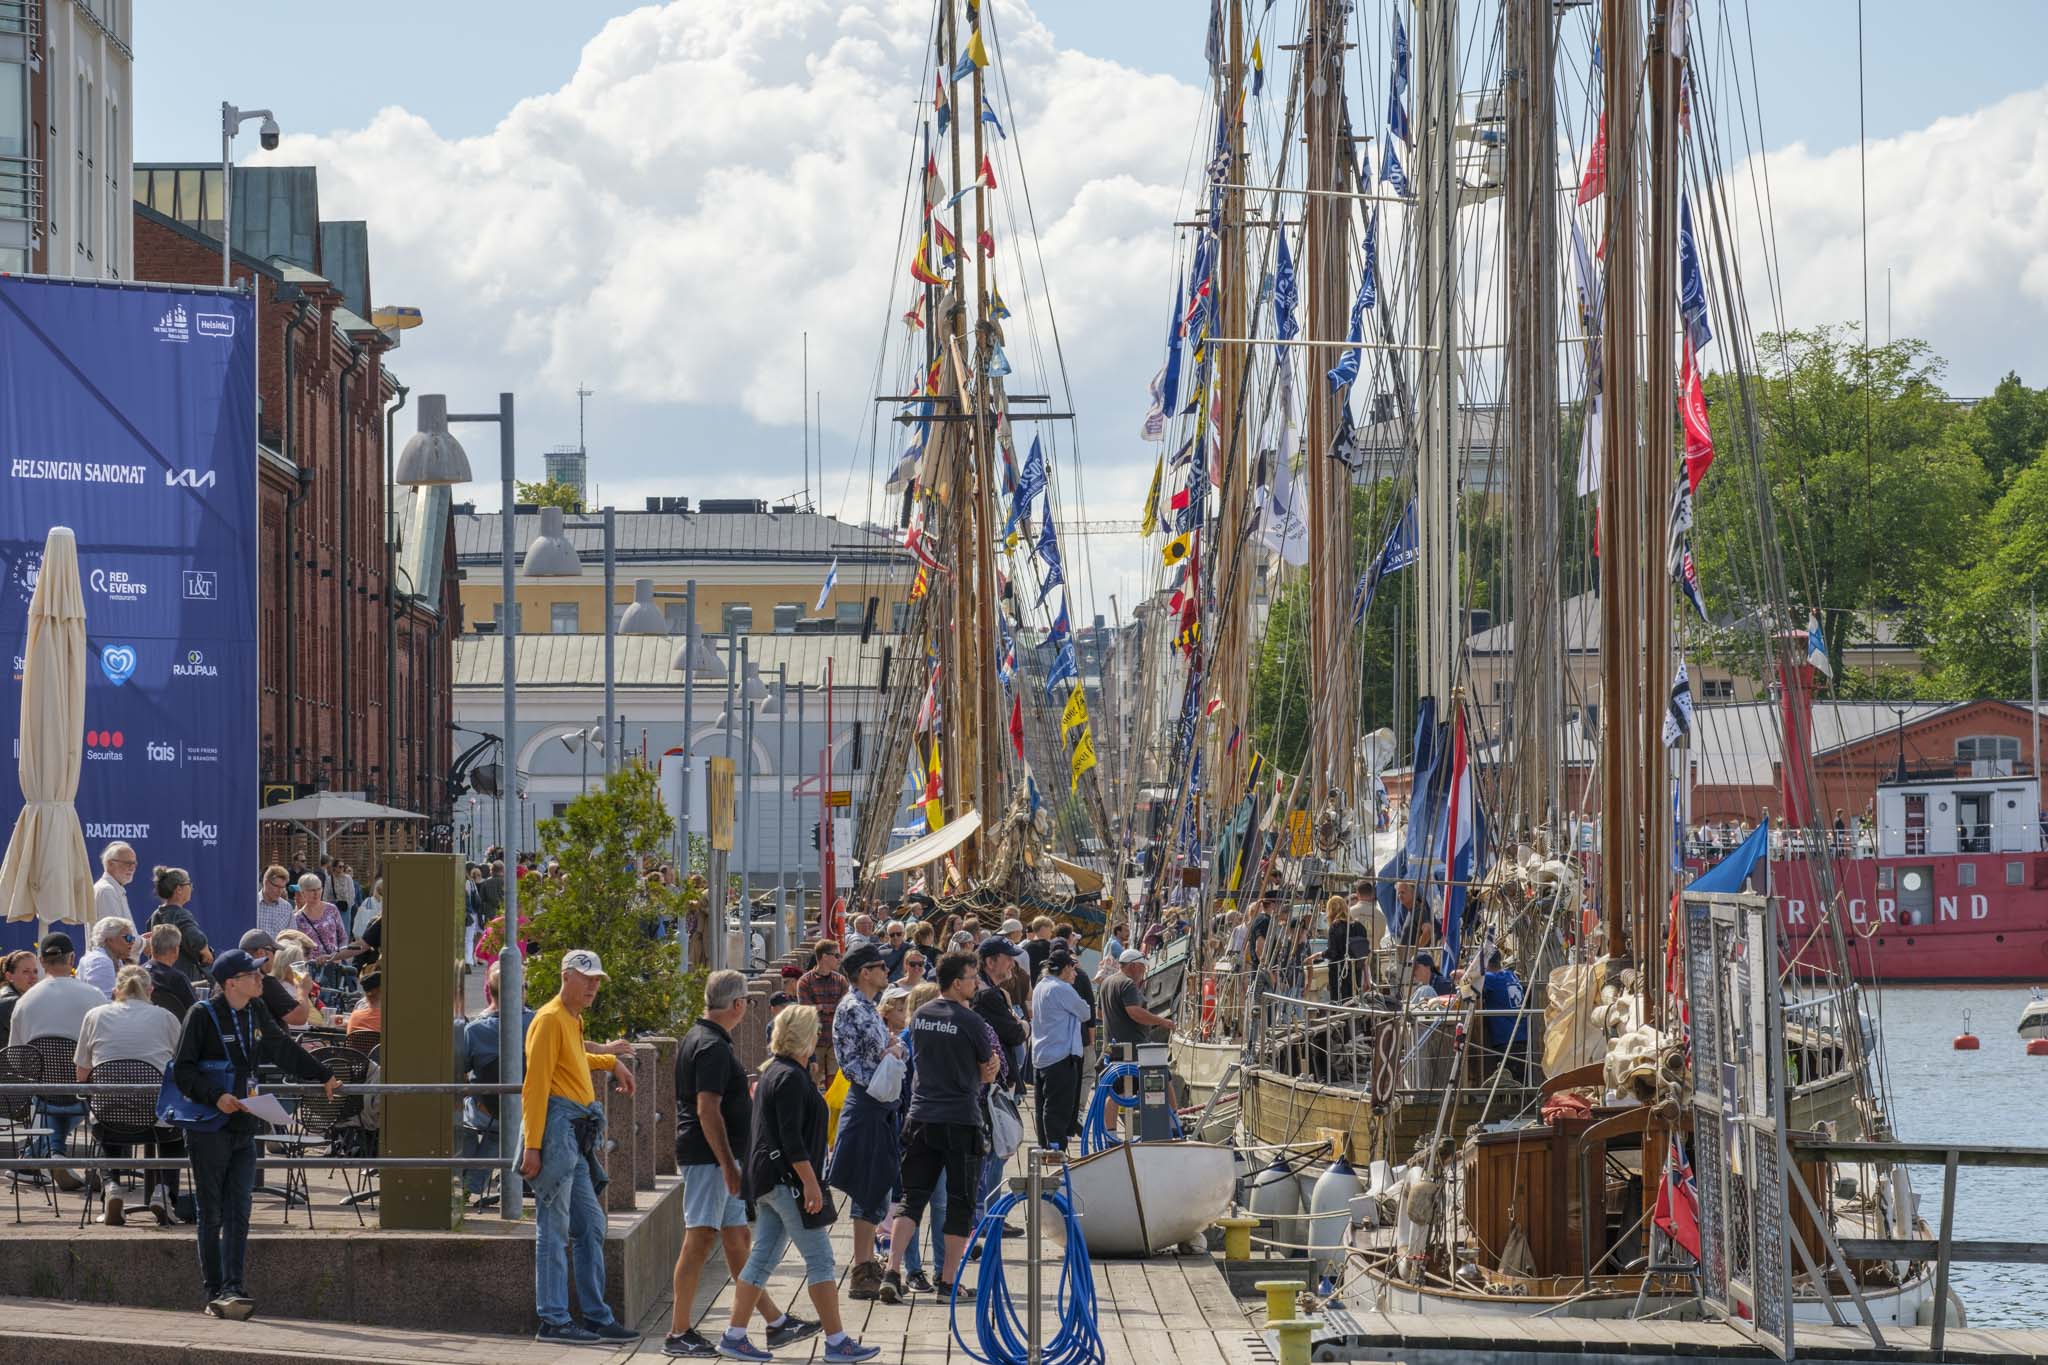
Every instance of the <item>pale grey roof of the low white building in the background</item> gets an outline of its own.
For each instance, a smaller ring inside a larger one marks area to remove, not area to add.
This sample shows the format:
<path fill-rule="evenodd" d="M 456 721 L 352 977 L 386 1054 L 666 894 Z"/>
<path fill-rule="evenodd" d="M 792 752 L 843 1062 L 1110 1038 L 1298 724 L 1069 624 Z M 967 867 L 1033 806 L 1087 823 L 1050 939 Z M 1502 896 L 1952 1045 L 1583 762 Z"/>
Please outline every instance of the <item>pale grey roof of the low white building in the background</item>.
<path fill-rule="evenodd" d="M 682 673 L 672 665 L 680 636 L 621 634 L 614 639 L 612 677 L 618 688 L 659 688 L 680 696 Z M 834 688 L 874 688 L 881 684 L 883 649 L 903 649 L 899 634 L 874 634 L 866 645 L 858 634 L 750 634 L 748 661 L 762 677 L 788 665 L 791 684 L 817 688 L 831 661 Z M 602 634 L 520 634 L 514 645 L 520 690 L 602 688 Z M 463 634 L 455 641 L 455 688 L 504 686 L 504 641 L 496 634 Z M 698 684 L 719 688 L 721 684 Z"/>

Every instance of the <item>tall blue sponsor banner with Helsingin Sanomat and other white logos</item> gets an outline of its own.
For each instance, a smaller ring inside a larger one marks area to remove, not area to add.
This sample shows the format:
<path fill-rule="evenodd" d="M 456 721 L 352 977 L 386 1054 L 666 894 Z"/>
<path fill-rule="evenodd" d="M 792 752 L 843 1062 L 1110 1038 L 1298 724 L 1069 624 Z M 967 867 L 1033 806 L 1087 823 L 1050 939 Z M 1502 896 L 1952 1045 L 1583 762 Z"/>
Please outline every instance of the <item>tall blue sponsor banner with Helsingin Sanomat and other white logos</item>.
<path fill-rule="evenodd" d="M 51 526 L 86 593 L 86 853 L 193 874 L 207 937 L 256 921 L 256 338 L 246 295 L 0 276 L 0 735 L 18 751 L 29 593 Z M 20 810 L 0 774 L 0 831 Z M 18 948 L 35 925 L 6 925 Z M 78 945 L 84 954 L 86 943 Z"/>

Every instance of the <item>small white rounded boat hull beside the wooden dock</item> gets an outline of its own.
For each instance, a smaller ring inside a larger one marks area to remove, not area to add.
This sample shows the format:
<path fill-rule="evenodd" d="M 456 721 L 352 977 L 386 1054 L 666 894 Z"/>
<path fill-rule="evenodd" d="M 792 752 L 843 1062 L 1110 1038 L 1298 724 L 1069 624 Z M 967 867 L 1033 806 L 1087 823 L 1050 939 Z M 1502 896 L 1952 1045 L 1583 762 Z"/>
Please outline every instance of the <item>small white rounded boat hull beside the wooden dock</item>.
<path fill-rule="evenodd" d="M 1212 1142 L 1118 1142 L 1067 1166 L 1092 1257 L 1153 1257 L 1223 1218 L 1237 1185 L 1231 1148 Z"/>

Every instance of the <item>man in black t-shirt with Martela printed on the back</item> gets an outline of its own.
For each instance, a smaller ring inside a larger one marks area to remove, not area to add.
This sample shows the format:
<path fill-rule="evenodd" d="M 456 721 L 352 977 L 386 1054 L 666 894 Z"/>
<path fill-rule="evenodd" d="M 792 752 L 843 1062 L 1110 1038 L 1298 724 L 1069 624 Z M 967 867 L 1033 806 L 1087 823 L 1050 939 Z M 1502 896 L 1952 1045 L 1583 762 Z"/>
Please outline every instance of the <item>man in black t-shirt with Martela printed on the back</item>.
<path fill-rule="evenodd" d="M 918 1236 L 918 1222 L 932 1189 L 946 1181 L 946 1263 L 938 1291 L 952 1293 L 975 1222 L 975 1175 L 983 1156 L 981 1087 L 997 1076 L 993 1029 L 967 1001 L 981 984 L 973 954 L 938 960 L 938 999 L 911 1015 L 909 1115 L 903 1124 L 903 1205 L 889 1242 L 889 1273 L 881 1302 L 903 1300 L 903 1248 Z"/>

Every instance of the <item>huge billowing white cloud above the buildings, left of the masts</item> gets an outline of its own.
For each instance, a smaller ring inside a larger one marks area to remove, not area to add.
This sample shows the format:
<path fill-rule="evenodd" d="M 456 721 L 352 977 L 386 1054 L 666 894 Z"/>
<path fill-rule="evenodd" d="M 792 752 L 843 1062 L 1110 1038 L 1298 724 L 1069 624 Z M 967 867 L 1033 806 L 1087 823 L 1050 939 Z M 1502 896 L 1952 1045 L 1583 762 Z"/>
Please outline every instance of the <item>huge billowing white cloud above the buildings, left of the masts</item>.
<path fill-rule="evenodd" d="M 1200 94 L 1059 49 L 1024 4 L 993 8 L 1010 82 L 991 82 L 991 98 L 1012 139 L 989 141 L 1004 186 L 995 272 L 1018 313 L 1012 383 L 1065 397 L 1047 372 L 1038 256 L 1024 254 L 1022 147 L 1090 491 L 1118 495 L 1094 514 L 1130 518 L 1151 460 L 1135 432 L 1169 291 L 1167 223 Z M 606 399 L 676 413 L 670 440 L 643 430 L 655 448 L 594 460 L 608 497 L 674 491 L 682 477 L 713 495 L 780 493 L 797 485 L 795 442 L 737 463 L 715 446 L 721 458 L 694 469 L 672 452 L 700 446 L 688 430 L 705 409 L 795 426 L 805 332 L 827 407 L 866 401 L 877 340 L 885 327 L 895 340 L 891 319 L 909 303 L 897 233 L 930 108 L 928 43 L 926 0 L 678 0 L 608 23 L 563 88 L 485 135 L 446 139 L 385 108 L 358 131 L 287 137 L 264 160 L 317 166 L 324 215 L 371 221 L 379 299 L 428 319 L 397 356 L 416 389 L 565 393 L 590 381 Z M 887 469 L 893 430 L 881 440 Z M 1145 473 L 1118 469 L 1141 460 Z M 825 510 L 842 481 L 844 467 L 827 467 Z M 864 505 L 856 491 L 848 512 Z"/>

